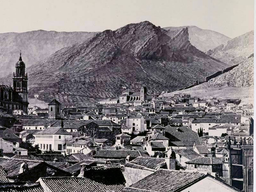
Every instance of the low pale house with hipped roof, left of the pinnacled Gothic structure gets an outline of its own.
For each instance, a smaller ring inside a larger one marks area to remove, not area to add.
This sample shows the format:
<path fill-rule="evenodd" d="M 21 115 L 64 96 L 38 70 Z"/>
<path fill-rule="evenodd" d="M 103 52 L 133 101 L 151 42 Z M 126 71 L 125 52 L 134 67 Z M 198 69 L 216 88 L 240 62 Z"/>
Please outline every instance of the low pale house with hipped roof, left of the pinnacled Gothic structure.
<path fill-rule="evenodd" d="M 186 162 L 188 171 L 210 173 L 214 177 L 223 175 L 223 159 L 219 157 L 197 157 Z"/>

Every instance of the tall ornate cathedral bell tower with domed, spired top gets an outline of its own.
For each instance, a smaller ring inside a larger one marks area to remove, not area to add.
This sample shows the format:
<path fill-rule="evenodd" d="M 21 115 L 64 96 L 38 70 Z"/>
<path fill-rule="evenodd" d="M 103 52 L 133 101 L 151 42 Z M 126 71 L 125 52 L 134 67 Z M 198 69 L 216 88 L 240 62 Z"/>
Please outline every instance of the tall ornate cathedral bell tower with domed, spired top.
<path fill-rule="evenodd" d="M 16 73 L 13 72 L 13 89 L 15 102 L 21 102 L 21 110 L 28 113 L 28 74 L 25 73 L 25 63 L 22 61 L 21 52 L 20 58 L 17 61 Z"/>

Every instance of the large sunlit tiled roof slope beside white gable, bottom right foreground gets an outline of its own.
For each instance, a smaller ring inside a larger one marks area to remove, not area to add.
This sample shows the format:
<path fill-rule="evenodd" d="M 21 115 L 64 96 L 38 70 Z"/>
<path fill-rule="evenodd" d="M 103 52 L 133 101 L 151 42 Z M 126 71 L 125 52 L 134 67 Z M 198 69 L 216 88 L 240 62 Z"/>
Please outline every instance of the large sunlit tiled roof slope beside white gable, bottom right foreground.
<path fill-rule="evenodd" d="M 204 173 L 160 169 L 137 183 L 125 187 L 124 192 L 175 192 L 205 177 Z"/>

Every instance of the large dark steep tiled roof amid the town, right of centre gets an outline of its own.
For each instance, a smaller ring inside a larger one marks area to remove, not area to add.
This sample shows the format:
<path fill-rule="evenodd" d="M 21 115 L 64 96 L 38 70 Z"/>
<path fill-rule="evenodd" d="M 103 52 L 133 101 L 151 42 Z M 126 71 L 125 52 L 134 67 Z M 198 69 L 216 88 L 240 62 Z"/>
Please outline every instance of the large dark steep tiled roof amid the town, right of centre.
<path fill-rule="evenodd" d="M 178 128 L 176 130 L 176 128 Z M 192 147 L 194 143 L 201 145 L 198 134 L 187 127 L 165 127 L 165 137 L 169 139 L 169 146 Z"/>

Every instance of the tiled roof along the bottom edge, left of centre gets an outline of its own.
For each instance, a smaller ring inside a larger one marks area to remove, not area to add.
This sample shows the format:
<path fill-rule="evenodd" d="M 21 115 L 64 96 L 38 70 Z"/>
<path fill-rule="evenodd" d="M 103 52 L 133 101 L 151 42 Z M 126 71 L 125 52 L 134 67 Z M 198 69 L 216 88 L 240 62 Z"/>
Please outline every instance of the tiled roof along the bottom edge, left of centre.
<path fill-rule="evenodd" d="M 44 183 L 52 192 L 121 192 L 124 188 L 121 184 L 107 185 L 83 177 L 43 177 L 38 181 Z"/>

